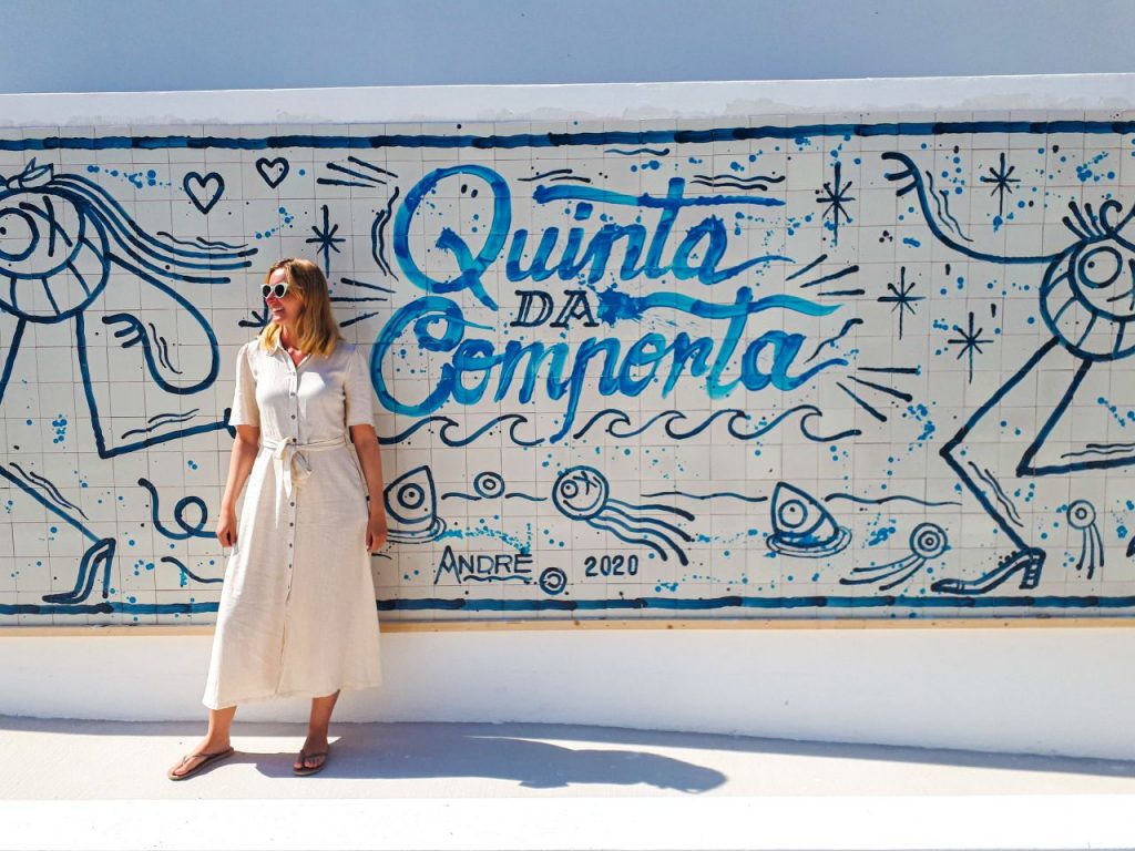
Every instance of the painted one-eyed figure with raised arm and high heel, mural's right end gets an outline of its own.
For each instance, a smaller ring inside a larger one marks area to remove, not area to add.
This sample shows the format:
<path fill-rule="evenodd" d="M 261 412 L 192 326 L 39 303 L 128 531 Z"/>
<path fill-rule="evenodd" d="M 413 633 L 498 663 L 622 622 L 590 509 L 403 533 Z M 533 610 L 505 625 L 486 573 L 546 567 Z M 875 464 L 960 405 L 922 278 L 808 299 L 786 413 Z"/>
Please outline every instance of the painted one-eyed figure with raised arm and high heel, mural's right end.
<path fill-rule="evenodd" d="M 888 152 L 883 159 L 901 165 L 888 179 L 902 184 L 899 196 L 916 194 L 927 227 L 942 245 L 986 263 L 1043 267 L 1036 306 L 1048 338 L 940 450 L 1012 549 L 981 575 L 942 579 L 931 585 L 944 593 L 982 595 L 1019 574 L 1019 588 L 1032 590 L 1040 584 L 1046 558 L 1043 538 L 1037 529 L 1025 528 L 1012 500 L 1015 488 L 1004 480 L 1135 464 L 1132 445 L 1109 443 L 1108 423 L 1093 420 L 1098 406 L 1085 403 L 1107 395 L 1111 380 L 1108 369 L 1093 371 L 1093 366 L 1135 354 L 1135 242 L 1129 228 L 1135 207 L 1124 213 L 1119 201 L 1108 199 L 1096 213 L 1091 204 L 1081 208 L 1070 201 L 1063 217 L 1070 237 L 1063 247 L 1049 254 L 994 254 L 974 248 L 973 239 L 945 214 L 942 203 L 948 202 L 935 195 L 930 171 L 922 171 L 905 153 Z M 1045 246 L 1052 243 L 1048 236 L 1044 242 Z M 1044 379 L 1039 380 L 1042 374 Z M 1012 411 L 1027 412 L 1018 433 L 1026 433 L 1028 443 L 1018 458 L 1006 464 L 999 423 Z M 1095 526 L 1086 513 L 1083 516 L 1081 521 L 1069 514 L 1069 522 L 1084 531 L 1083 555 L 1091 572 L 1094 554 L 1102 563 L 1102 539 L 1098 529 L 1091 533 Z M 1084 525 L 1076 526 L 1077 522 Z"/>

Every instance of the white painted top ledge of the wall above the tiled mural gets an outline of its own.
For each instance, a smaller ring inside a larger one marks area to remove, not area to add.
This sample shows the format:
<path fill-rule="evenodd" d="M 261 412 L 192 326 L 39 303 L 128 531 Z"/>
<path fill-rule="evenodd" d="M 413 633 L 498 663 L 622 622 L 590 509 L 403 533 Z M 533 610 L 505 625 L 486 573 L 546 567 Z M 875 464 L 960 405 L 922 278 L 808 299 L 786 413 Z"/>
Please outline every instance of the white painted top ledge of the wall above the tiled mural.
<path fill-rule="evenodd" d="M 2 94 L 0 127 L 714 119 L 1135 108 L 1135 74 Z"/>

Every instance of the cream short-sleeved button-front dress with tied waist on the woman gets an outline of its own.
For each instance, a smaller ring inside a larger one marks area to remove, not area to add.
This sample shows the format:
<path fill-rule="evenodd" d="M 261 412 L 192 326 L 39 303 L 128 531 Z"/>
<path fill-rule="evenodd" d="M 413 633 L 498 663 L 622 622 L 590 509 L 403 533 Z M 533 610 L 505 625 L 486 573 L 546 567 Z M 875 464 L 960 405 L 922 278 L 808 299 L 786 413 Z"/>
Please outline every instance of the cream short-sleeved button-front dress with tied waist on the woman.
<path fill-rule="evenodd" d="M 372 397 L 351 344 L 299 366 L 278 344 L 241 348 L 229 423 L 258 426 L 260 452 L 225 568 L 207 707 L 379 684 L 367 486 L 347 431 L 373 424 Z"/>

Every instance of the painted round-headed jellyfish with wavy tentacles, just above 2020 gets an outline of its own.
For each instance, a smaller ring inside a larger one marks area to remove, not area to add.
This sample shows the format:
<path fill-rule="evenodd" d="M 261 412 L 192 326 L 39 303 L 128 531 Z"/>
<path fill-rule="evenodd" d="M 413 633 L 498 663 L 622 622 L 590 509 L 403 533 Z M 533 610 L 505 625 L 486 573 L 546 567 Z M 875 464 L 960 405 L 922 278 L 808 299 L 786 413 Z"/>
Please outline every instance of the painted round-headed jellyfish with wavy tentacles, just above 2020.
<path fill-rule="evenodd" d="M 689 544 L 693 537 L 666 520 L 649 515 L 655 512 L 676 514 L 686 520 L 693 520 L 693 515 L 669 505 L 633 505 L 615 499 L 611 496 L 607 478 L 592 466 L 568 467 L 560 473 L 552 488 L 552 504 L 569 520 L 611 532 L 627 544 L 649 547 L 664 562 L 669 558 L 669 548 L 679 562 L 689 564 L 678 541 Z"/>

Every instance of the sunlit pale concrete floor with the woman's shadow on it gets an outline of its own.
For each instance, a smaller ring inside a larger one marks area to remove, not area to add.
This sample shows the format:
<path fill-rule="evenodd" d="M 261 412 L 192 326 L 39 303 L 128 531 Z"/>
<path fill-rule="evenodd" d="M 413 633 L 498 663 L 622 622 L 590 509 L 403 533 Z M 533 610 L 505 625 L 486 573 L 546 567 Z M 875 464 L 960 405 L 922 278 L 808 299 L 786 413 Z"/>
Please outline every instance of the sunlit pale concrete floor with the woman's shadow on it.
<path fill-rule="evenodd" d="M 1135 764 L 535 724 L 0 717 L 0 849 L 1135 848 Z"/>

